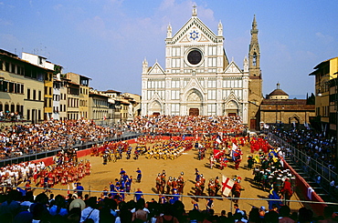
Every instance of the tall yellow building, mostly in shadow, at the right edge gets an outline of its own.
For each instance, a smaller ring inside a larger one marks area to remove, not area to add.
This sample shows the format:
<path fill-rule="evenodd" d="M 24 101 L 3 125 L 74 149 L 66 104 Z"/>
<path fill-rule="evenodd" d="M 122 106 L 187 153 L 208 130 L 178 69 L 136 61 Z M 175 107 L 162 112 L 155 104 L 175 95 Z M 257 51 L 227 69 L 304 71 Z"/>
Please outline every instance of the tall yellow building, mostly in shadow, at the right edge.
<path fill-rule="evenodd" d="M 312 126 L 327 136 L 338 136 L 338 57 L 322 61 L 309 76 L 315 76 L 315 118 Z"/>

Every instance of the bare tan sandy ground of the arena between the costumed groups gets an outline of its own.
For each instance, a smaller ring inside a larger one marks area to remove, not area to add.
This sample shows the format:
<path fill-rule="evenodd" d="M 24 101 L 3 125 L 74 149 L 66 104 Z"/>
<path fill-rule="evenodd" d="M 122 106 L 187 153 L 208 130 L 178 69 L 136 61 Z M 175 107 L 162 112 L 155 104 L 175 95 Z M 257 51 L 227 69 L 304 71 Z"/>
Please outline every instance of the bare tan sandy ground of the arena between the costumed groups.
<path fill-rule="evenodd" d="M 132 145 L 135 147 L 135 145 Z M 207 156 L 209 157 L 208 151 Z M 251 209 L 252 206 L 261 207 L 264 206 L 268 208 L 268 202 L 265 200 L 259 200 L 260 198 L 268 198 L 269 192 L 263 191 L 262 188 L 259 188 L 253 184 L 253 175 L 252 170 L 247 168 L 247 156 L 249 155 L 249 147 L 242 147 L 243 161 L 240 164 L 239 170 L 236 170 L 233 167 L 233 163 L 227 163 L 228 166 L 220 170 L 218 168 L 211 169 L 208 164 L 207 159 L 198 160 L 197 151 L 190 150 L 186 151 L 182 156 L 170 160 L 170 159 L 147 159 L 146 157 L 139 157 L 138 160 L 126 159 L 125 154 L 123 153 L 123 158 L 117 162 L 109 162 L 107 165 L 102 164 L 102 157 L 80 157 L 79 159 L 90 159 L 91 163 L 91 174 L 80 180 L 82 186 L 85 190 L 90 190 L 90 196 L 100 197 L 100 193 L 94 191 L 102 191 L 104 187 L 109 188 L 109 182 L 114 182 L 115 178 L 119 178 L 120 169 L 123 168 L 128 175 L 132 175 L 135 179 L 136 177 L 136 168 L 140 167 L 143 172 L 143 178 L 141 183 L 132 183 L 132 192 L 137 188 L 141 188 L 145 194 L 154 194 L 155 193 L 155 177 L 158 173 L 162 173 L 163 170 L 166 172 L 166 178 L 178 177 L 180 173 L 184 172 L 185 177 L 185 189 L 184 195 L 193 196 L 195 191 L 195 168 L 198 168 L 199 172 L 206 177 L 206 188 L 207 182 L 210 178 L 219 177 L 220 179 L 223 176 L 234 177 L 238 175 L 242 177 L 241 186 L 245 190 L 241 193 L 241 198 L 253 198 L 252 200 L 239 200 L 238 205 L 240 209 L 244 209 L 247 212 Z M 55 188 L 67 189 L 67 186 L 57 185 Z M 65 192 L 54 190 L 53 193 L 64 194 Z M 206 193 L 206 189 L 205 189 Z M 86 193 L 85 193 L 86 194 Z M 220 192 L 218 192 L 220 194 Z M 126 201 L 132 199 L 133 196 L 129 195 L 126 197 Z M 145 195 L 144 198 L 146 201 L 150 201 L 151 198 L 158 200 L 157 195 Z M 193 208 L 191 203 L 193 198 L 183 197 L 181 200 L 185 204 L 185 210 L 188 211 Z M 291 198 L 292 200 L 299 200 L 299 197 L 294 194 Z M 206 198 L 199 198 L 198 205 L 200 209 L 206 209 Z M 233 212 L 233 203 L 225 197 L 219 197 L 215 199 L 214 209 L 217 214 L 221 210 L 225 209 L 226 211 Z M 298 211 L 299 208 L 303 207 L 300 202 L 290 202 L 291 212 Z"/>

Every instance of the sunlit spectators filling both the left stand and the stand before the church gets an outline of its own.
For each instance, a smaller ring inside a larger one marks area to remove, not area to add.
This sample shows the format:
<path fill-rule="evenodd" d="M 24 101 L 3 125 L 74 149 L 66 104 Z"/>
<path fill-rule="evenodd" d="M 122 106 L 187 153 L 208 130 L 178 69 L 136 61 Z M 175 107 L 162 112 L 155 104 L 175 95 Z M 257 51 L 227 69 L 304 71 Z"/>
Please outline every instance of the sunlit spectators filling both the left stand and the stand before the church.
<path fill-rule="evenodd" d="M 240 117 L 136 117 L 123 127 L 101 127 L 87 119 L 48 120 L 37 124 L 4 127 L 0 132 L 0 159 L 20 157 L 121 136 L 123 131 L 143 134 L 242 134 Z"/>

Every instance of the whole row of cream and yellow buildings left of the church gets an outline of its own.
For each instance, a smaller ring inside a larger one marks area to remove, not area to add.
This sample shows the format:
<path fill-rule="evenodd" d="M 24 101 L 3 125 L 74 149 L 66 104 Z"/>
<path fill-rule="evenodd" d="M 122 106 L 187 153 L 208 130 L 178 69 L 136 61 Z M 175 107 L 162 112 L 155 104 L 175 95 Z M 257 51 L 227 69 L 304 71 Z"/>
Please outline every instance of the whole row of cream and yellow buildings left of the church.
<path fill-rule="evenodd" d="M 130 122 L 140 115 L 141 96 L 90 90 L 90 77 L 63 74 L 46 57 L 22 58 L 0 49 L 0 121 L 90 118 L 104 124 Z"/>

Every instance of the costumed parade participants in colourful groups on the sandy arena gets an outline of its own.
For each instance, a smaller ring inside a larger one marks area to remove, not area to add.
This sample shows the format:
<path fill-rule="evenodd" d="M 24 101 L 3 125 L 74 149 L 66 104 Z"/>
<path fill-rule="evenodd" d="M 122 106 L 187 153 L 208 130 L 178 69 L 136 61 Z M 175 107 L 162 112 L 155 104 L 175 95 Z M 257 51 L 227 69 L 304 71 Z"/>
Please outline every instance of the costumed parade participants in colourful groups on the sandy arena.
<path fill-rule="evenodd" d="M 248 168 L 254 169 L 254 181 L 267 190 L 274 188 L 275 194 L 279 195 L 280 198 L 290 199 L 292 195 L 290 173 L 281 167 L 280 151 L 270 147 L 263 137 L 230 136 L 222 131 L 218 131 L 214 135 L 202 135 L 202 137 L 193 137 L 188 140 L 185 137 L 163 139 L 158 136 L 143 136 L 135 139 L 135 144 L 120 141 L 95 145 L 90 148 L 90 156 L 102 157 L 103 164 L 108 165 L 110 162 L 121 159 L 132 160 L 132 154 L 134 154 L 134 160 L 137 160 L 140 156 L 149 159 L 174 159 L 195 148 L 193 151 L 196 152 L 197 159 L 202 161 L 204 157 L 209 156 L 210 169 L 224 170 L 231 167 L 239 170 L 243 160 L 242 148 L 246 146 L 249 146 L 250 152 L 252 152 L 248 156 Z M 38 167 L 40 171 L 33 171 L 32 177 L 37 185 L 48 190 L 58 183 L 71 185 L 79 182 L 82 177 L 90 174 L 90 162 L 81 160 L 77 163 L 78 158 L 74 155 L 76 153 L 73 150 L 69 150 L 67 153 L 58 153 L 54 157 L 54 166 Z M 29 176 L 29 171 L 25 172 L 25 174 L 19 175 Z M 135 180 L 140 183 L 142 171 L 137 168 L 135 172 Z M 11 174 L 11 176 L 14 177 L 8 177 L 9 179 L 4 182 L 17 181 L 16 174 Z M 240 177 L 235 176 L 234 182 L 231 193 L 235 198 L 233 201 L 238 202 L 243 189 L 240 186 Z M 111 183 L 109 188 L 111 196 L 118 196 L 119 200 L 124 200 L 125 193 L 132 191 L 132 176 L 128 176 L 126 171 L 121 168 L 120 177 L 115 180 L 115 183 Z M 178 195 L 184 193 L 184 188 L 185 177 L 183 172 L 177 177 L 172 177 L 167 176 L 165 170 L 163 170 L 155 177 L 156 193 L 165 195 L 165 198 L 169 199 L 168 196 L 172 196 L 173 200 L 177 199 Z M 219 191 L 221 189 L 222 182 L 220 182 L 218 176 L 206 178 L 198 169 L 195 169 L 196 200 L 200 196 L 220 196 Z M 107 196 L 106 193 L 104 197 Z"/>

